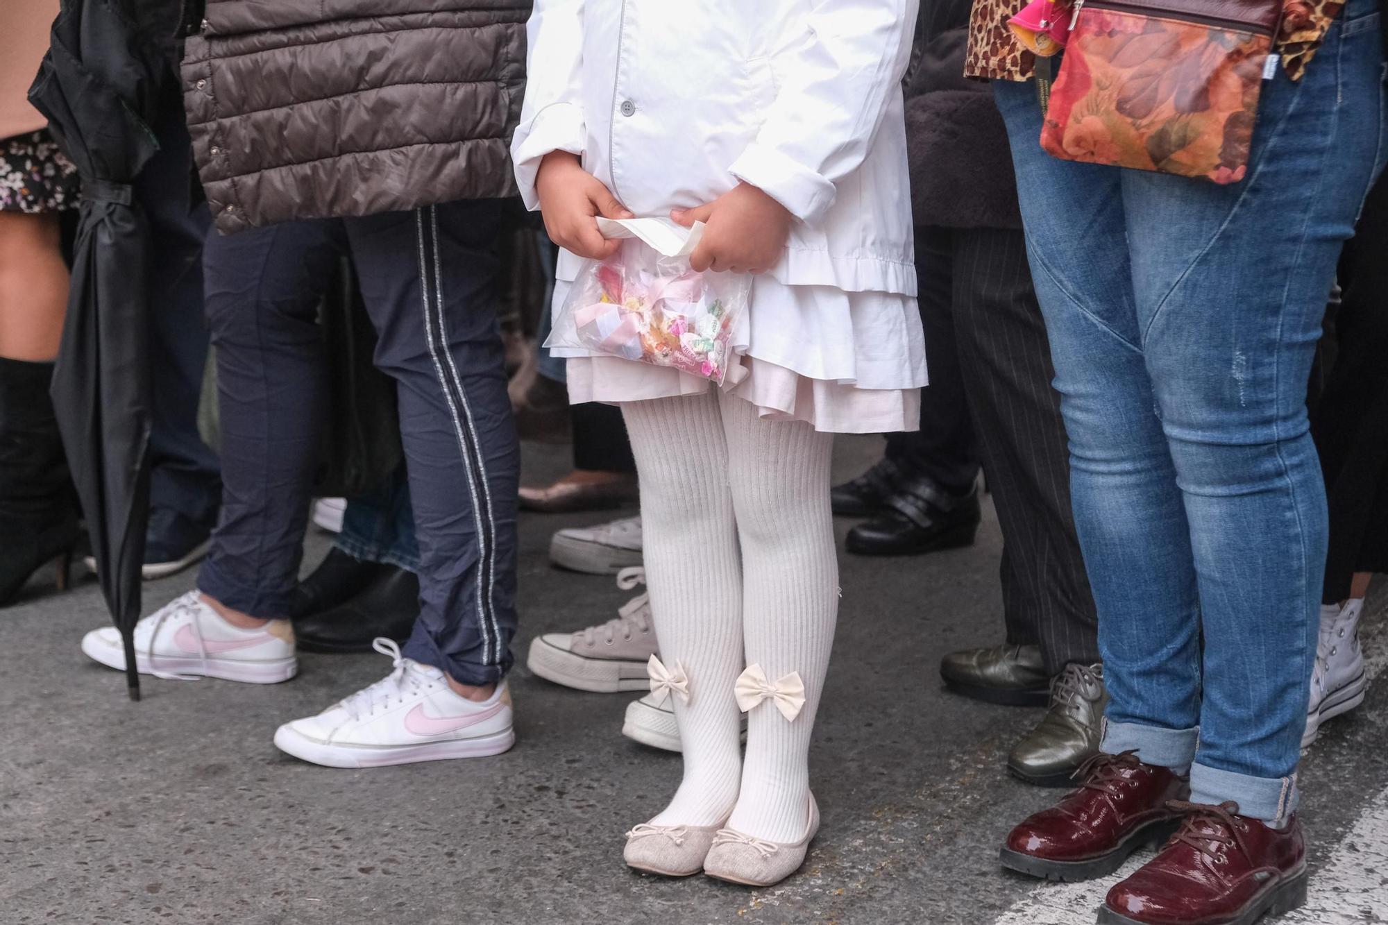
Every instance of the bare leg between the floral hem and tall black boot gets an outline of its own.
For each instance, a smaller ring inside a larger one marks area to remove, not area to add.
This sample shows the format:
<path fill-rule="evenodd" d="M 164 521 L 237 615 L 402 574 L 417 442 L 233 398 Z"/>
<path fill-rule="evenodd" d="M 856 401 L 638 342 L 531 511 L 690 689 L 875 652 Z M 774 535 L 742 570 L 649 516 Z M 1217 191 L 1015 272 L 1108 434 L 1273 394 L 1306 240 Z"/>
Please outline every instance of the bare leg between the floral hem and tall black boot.
<path fill-rule="evenodd" d="M 57 214 L 0 212 L 0 357 L 57 357 L 67 307 Z"/>

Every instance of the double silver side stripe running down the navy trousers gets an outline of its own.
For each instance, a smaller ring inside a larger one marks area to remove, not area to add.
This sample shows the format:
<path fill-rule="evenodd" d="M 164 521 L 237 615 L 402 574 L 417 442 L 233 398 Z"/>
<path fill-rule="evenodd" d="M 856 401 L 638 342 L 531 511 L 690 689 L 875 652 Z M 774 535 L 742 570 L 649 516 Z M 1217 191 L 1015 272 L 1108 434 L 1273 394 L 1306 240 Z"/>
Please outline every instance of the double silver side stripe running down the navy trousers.
<path fill-rule="evenodd" d="M 426 222 L 428 217 L 428 222 Z M 433 206 L 415 210 L 415 232 L 419 242 L 419 289 L 425 310 L 425 340 L 429 343 L 429 357 L 434 374 L 443 386 L 444 400 L 452 417 L 452 429 L 458 438 L 462 454 L 462 469 L 468 479 L 472 499 L 472 519 L 477 532 L 477 626 L 482 632 L 483 661 L 496 665 L 501 661 L 497 640 L 496 604 L 496 518 L 491 508 L 491 488 L 487 483 L 487 465 L 477 442 L 477 429 L 472 419 L 472 407 L 462 388 L 462 376 L 448 351 L 448 329 L 443 311 L 443 269 L 439 260 L 439 217 Z M 430 283 L 433 285 L 430 290 Z M 441 358 L 440 358 L 441 357 Z M 444 365 L 447 361 L 447 367 Z M 459 414 L 461 412 L 461 414 Z M 479 490 L 480 486 L 480 490 Z"/>

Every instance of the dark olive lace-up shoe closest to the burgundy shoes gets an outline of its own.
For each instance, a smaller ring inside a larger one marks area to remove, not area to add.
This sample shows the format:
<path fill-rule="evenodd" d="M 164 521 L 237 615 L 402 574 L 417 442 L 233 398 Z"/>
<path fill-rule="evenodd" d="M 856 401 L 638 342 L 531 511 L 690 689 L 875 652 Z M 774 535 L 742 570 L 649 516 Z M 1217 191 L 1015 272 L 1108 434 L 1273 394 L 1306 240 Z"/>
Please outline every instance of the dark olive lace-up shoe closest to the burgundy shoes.
<path fill-rule="evenodd" d="M 1103 665 L 1066 665 L 1051 688 L 1051 708 L 1008 756 L 1008 771 L 1027 783 L 1063 788 L 1099 750 L 1103 707 Z"/>

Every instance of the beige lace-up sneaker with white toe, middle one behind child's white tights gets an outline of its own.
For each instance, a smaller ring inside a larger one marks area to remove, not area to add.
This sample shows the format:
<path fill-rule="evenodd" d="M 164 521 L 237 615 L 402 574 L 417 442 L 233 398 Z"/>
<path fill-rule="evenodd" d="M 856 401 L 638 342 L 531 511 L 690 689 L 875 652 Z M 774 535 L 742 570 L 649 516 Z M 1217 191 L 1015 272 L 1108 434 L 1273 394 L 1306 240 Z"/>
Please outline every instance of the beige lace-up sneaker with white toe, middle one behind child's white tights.
<path fill-rule="evenodd" d="M 618 588 L 632 590 L 645 582 L 641 568 L 623 568 Z M 530 671 L 557 685 L 613 693 L 651 686 L 645 662 L 655 654 L 655 626 L 650 594 L 637 594 L 618 615 L 576 633 L 545 633 L 530 642 Z"/>

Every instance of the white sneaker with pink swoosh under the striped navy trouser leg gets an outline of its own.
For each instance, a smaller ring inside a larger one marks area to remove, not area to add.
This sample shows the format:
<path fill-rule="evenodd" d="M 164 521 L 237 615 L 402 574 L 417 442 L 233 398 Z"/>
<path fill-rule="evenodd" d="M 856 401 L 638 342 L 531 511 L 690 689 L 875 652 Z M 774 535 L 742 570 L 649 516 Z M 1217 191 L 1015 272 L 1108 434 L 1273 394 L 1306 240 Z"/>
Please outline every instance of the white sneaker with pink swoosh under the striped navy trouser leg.
<path fill-rule="evenodd" d="M 286 722 L 275 744 L 329 768 L 379 768 L 441 758 L 501 754 L 515 744 L 511 692 L 473 701 L 454 693 L 437 668 L 400 654 L 390 639 L 372 643 L 396 669 L 316 717 Z"/>

